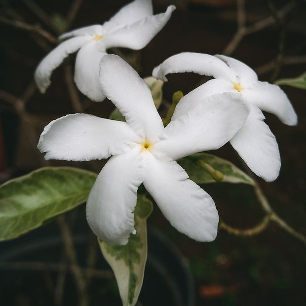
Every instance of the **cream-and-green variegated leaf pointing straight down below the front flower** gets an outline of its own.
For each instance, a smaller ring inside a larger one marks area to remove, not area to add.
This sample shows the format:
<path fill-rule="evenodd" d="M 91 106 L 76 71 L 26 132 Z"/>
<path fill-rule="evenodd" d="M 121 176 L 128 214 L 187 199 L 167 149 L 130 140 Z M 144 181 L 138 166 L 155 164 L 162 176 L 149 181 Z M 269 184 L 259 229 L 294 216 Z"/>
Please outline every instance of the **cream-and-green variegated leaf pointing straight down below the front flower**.
<path fill-rule="evenodd" d="M 101 251 L 112 267 L 123 306 L 134 306 L 142 286 L 147 261 L 147 219 L 152 202 L 138 194 L 134 211 L 136 234 L 131 234 L 126 245 L 115 245 L 99 240 Z"/>

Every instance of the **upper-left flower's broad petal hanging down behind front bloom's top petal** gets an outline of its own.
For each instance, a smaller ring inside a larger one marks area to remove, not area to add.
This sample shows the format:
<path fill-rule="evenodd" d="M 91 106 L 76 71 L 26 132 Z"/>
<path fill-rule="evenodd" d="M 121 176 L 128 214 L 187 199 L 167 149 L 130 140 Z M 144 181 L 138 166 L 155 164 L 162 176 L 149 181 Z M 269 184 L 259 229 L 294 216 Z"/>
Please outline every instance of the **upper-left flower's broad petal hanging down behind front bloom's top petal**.
<path fill-rule="evenodd" d="M 105 99 L 105 94 L 99 85 L 99 64 L 105 54 L 107 53 L 101 48 L 99 41 L 92 40 L 81 47 L 76 55 L 77 88 L 95 102 Z"/>

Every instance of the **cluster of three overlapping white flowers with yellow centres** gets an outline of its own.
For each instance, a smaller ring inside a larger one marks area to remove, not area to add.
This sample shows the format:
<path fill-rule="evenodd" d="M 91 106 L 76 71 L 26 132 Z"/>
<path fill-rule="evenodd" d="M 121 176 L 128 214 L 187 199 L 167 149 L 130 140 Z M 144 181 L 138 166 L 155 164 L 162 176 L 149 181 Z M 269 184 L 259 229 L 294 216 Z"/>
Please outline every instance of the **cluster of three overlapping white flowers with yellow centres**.
<path fill-rule="evenodd" d="M 214 79 L 184 96 L 164 127 L 144 80 L 106 50 L 143 48 L 174 9 L 171 5 L 165 13 L 153 15 L 151 0 L 134 0 L 103 25 L 62 35 L 60 39 L 68 39 L 41 61 L 35 73 L 44 92 L 52 71 L 79 49 L 75 66 L 79 90 L 93 101 L 107 97 L 126 119 L 66 115 L 50 122 L 38 143 L 46 159 L 88 161 L 112 156 L 86 206 L 91 229 L 108 242 L 123 245 L 135 234 L 133 211 L 141 184 L 173 227 L 198 241 L 215 239 L 219 217 L 214 201 L 175 160 L 230 142 L 255 174 L 272 181 L 278 176 L 280 157 L 261 110 L 285 124 L 297 124 L 285 93 L 260 82 L 245 64 L 222 55 L 181 53 L 156 67 L 153 76 L 166 81 L 170 73 L 194 72 Z"/>

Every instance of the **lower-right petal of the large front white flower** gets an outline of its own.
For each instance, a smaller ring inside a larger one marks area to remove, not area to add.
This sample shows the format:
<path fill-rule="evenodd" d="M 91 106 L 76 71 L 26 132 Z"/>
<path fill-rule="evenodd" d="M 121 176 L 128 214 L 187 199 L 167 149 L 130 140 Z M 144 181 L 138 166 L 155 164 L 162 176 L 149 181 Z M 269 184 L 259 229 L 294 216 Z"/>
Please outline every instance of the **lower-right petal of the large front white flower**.
<path fill-rule="evenodd" d="M 150 157 L 143 183 L 163 215 L 192 239 L 214 240 L 219 217 L 211 196 L 189 180 L 176 161 Z"/>

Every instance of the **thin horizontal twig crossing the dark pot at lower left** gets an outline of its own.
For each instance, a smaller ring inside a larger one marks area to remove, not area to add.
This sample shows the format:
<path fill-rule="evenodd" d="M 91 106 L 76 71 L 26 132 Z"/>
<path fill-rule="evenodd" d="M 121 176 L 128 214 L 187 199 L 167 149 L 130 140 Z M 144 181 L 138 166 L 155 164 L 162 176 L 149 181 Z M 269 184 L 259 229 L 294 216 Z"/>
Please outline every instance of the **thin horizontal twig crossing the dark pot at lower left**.
<path fill-rule="evenodd" d="M 114 274 L 111 270 L 100 270 L 93 268 L 81 268 L 78 266 L 84 274 L 89 274 L 92 277 L 113 279 Z M 0 269 L 2 270 L 33 270 L 33 271 L 56 271 L 59 272 L 63 269 L 67 269 L 69 273 L 74 273 L 76 266 L 63 265 L 57 263 L 47 262 L 0 262 Z"/>

